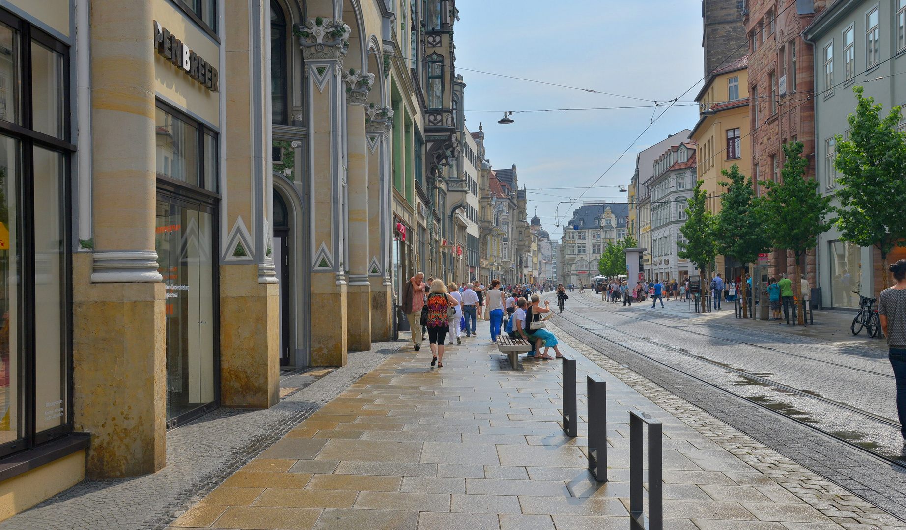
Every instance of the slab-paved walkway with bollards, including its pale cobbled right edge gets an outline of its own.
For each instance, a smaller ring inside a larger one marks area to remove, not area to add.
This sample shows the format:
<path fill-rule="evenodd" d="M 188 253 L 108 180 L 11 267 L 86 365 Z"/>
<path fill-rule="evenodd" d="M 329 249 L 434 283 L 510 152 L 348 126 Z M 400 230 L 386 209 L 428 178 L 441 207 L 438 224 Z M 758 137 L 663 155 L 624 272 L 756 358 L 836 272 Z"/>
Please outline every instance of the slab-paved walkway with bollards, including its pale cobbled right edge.
<path fill-rule="evenodd" d="M 478 337 L 448 346 L 443 368 L 429 366 L 427 344 L 387 355 L 169 527 L 623 530 L 629 411 L 663 422 L 665 528 L 906 527 L 625 365 L 593 362 L 580 341 L 551 329 L 577 359 L 581 421 L 586 375 L 607 382 L 609 482 L 586 470 L 585 423 L 575 439 L 561 429 L 561 362 L 512 371 L 479 322 Z"/>

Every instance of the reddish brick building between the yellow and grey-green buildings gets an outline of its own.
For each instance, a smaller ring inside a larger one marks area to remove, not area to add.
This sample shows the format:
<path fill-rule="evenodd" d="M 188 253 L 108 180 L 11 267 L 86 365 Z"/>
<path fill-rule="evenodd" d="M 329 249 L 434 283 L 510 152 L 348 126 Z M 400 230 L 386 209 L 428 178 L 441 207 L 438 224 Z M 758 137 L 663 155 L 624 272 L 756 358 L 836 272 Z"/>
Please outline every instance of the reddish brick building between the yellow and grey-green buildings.
<path fill-rule="evenodd" d="M 747 0 L 743 17 L 748 38 L 749 113 L 752 136 L 752 165 L 746 175 L 758 180 L 780 180 L 784 163 L 781 146 L 798 140 L 808 157 L 806 177 L 814 178 L 814 53 L 801 33 L 814 16 L 831 4 L 814 0 L 814 13 L 795 0 Z M 757 186 L 764 194 L 764 186 Z M 772 276 L 794 273 L 793 252 L 770 253 Z M 814 287 L 815 258 L 810 251 L 803 268 Z"/>

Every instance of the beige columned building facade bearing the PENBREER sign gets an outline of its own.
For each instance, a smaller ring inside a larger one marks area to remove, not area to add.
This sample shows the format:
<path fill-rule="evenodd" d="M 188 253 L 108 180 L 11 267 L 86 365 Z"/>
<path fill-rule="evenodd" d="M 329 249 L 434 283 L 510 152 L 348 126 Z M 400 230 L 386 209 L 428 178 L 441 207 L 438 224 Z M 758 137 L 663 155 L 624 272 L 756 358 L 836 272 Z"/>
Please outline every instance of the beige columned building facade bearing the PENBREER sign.
<path fill-rule="evenodd" d="M 0 5 L 0 518 L 158 471 L 169 429 L 393 336 L 410 9 Z"/>

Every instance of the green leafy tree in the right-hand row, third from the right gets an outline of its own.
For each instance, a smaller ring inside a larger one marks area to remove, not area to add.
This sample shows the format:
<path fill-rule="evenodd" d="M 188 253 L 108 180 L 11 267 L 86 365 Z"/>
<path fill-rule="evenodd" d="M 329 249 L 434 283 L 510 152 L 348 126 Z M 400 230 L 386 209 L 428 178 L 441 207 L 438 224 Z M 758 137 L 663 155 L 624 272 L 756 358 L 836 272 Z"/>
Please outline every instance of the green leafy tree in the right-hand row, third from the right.
<path fill-rule="evenodd" d="M 761 201 L 755 194 L 752 177 L 746 178 L 734 164 L 720 171 L 729 182 L 720 195 L 720 213 L 715 216 L 715 240 L 718 254 L 736 258 L 741 263 L 757 262 L 758 254 L 771 250 L 771 239 L 765 230 Z M 746 286 L 739 288 L 743 317 L 747 317 Z"/>

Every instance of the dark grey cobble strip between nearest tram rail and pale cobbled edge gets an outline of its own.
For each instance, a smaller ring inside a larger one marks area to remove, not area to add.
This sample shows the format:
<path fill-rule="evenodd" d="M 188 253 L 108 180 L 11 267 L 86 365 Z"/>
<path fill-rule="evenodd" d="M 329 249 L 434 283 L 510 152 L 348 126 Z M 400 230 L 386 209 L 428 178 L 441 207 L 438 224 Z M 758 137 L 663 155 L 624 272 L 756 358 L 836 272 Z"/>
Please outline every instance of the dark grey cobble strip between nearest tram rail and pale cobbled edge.
<path fill-rule="evenodd" d="M 906 518 L 906 473 L 878 457 L 836 440 L 786 417 L 746 402 L 708 383 L 702 383 L 669 366 L 603 340 L 563 317 L 557 327 L 584 345 L 635 374 L 641 374 L 665 391 L 699 407 L 771 450 L 829 479 L 899 518 Z M 847 523 L 850 524 L 850 523 Z M 872 528 L 852 523 L 853 530 Z"/>

